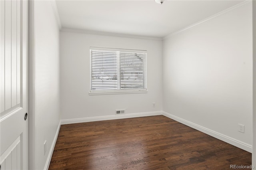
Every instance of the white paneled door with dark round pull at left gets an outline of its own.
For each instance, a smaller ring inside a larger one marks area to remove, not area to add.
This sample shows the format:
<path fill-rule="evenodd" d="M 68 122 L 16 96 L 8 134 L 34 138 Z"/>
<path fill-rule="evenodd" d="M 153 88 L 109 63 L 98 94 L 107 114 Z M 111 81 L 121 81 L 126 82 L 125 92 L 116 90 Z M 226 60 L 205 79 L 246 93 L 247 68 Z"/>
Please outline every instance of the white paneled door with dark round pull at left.
<path fill-rule="evenodd" d="M 28 169 L 28 1 L 0 0 L 0 165 Z"/>

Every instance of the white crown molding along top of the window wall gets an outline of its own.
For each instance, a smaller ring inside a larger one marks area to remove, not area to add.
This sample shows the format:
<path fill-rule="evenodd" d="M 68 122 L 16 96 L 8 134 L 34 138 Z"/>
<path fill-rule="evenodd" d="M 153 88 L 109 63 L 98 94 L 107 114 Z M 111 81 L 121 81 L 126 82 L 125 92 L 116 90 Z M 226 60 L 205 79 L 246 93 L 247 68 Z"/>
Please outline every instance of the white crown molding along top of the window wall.
<path fill-rule="evenodd" d="M 98 31 L 91 31 L 91 30 L 77 30 L 77 29 L 70 29 L 70 28 L 62 28 L 60 32 L 72 32 L 72 33 L 80 33 L 80 34 L 92 34 L 92 35 L 100 35 L 100 36 L 113 36 L 113 37 L 122 37 L 122 38 L 137 38 L 137 39 L 144 39 L 144 40 L 162 41 L 162 38 L 160 37 L 136 36 L 136 35 L 130 35 L 130 34 L 98 32 Z"/>

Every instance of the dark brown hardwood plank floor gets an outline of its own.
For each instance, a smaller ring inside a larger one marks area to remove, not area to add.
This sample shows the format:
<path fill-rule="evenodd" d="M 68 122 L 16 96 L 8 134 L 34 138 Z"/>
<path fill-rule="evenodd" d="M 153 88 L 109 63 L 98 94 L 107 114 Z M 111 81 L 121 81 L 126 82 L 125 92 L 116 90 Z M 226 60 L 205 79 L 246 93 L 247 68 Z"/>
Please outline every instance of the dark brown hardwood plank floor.
<path fill-rule="evenodd" d="M 229 170 L 252 154 L 164 116 L 62 125 L 49 170 Z"/>

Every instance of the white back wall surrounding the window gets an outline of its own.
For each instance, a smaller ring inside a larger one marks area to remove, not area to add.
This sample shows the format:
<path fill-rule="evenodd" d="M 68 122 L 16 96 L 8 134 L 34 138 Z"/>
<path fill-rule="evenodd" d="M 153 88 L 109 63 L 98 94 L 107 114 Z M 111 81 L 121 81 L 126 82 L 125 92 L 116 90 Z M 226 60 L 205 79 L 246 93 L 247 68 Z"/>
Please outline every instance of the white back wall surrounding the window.
<path fill-rule="evenodd" d="M 148 93 L 89 95 L 90 47 L 147 50 Z M 62 120 L 162 111 L 162 41 L 60 32 L 60 56 Z"/>

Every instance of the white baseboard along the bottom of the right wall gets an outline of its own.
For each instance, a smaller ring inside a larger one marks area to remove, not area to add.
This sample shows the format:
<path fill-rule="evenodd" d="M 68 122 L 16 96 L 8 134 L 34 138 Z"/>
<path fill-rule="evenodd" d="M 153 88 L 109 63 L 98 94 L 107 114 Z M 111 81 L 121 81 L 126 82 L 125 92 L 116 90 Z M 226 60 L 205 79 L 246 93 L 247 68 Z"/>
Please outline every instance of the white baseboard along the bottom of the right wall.
<path fill-rule="evenodd" d="M 187 126 L 192 127 L 192 128 L 194 128 L 196 130 L 199 130 L 199 131 L 201 131 L 201 132 L 203 132 L 205 134 L 213 136 L 214 138 L 220 139 L 220 140 L 222 140 L 224 142 L 227 142 L 227 143 L 232 144 L 232 145 L 234 145 L 234 146 L 236 146 L 238 148 L 246 150 L 247 152 L 252 153 L 252 145 L 250 145 L 250 144 L 247 144 L 247 143 L 242 142 L 240 140 L 236 140 L 235 138 L 231 138 L 229 136 L 226 136 L 226 135 L 221 134 L 219 132 L 216 132 L 214 130 L 210 130 L 208 128 L 202 127 L 202 126 L 197 125 L 195 123 L 192 123 L 190 121 L 186 121 L 186 120 L 184 120 L 182 118 L 179 118 L 179 117 L 176 117 L 174 115 L 171 115 L 170 113 L 166 113 L 164 111 L 162 113 L 163 113 L 162 115 L 164 115 L 164 116 L 166 116 L 166 117 L 168 117 L 170 119 L 173 119 L 173 120 L 175 120 L 177 122 L 180 122 L 180 123 L 182 123 L 184 125 L 187 125 Z"/>

